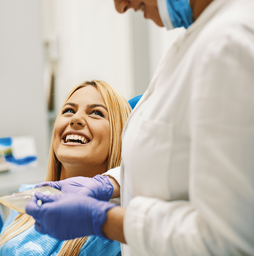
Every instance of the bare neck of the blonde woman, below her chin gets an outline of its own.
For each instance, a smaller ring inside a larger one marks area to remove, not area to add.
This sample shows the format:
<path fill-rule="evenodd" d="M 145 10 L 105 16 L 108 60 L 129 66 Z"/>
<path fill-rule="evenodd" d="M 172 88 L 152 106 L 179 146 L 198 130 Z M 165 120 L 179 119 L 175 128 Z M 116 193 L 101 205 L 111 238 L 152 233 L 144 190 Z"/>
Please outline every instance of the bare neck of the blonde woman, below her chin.
<path fill-rule="evenodd" d="M 62 164 L 61 165 L 61 175 L 60 180 L 66 178 L 72 178 L 77 176 L 92 178 L 97 174 L 102 174 L 107 171 L 106 164 L 94 165 L 94 164 Z"/>

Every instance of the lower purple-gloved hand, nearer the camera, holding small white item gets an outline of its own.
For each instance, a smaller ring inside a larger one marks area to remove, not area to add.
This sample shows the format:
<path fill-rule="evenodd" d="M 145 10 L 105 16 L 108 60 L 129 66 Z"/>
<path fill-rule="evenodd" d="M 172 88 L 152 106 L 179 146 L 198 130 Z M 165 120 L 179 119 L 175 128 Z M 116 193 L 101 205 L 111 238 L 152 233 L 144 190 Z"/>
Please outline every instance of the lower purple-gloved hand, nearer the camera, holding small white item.
<path fill-rule="evenodd" d="M 37 200 L 42 201 L 38 206 Z M 26 213 L 36 220 L 35 229 L 59 240 L 102 234 L 101 226 L 114 203 L 75 194 L 44 195 L 36 192 L 26 206 Z"/>

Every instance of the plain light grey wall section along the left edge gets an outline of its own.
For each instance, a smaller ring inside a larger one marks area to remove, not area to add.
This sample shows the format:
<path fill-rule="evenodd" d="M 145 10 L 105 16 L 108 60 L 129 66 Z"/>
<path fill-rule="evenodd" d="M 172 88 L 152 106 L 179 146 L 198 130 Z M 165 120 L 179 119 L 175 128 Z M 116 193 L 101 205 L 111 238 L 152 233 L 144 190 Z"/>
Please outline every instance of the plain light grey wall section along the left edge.
<path fill-rule="evenodd" d="M 47 162 L 39 0 L 0 0 L 0 137 L 33 135 Z"/>

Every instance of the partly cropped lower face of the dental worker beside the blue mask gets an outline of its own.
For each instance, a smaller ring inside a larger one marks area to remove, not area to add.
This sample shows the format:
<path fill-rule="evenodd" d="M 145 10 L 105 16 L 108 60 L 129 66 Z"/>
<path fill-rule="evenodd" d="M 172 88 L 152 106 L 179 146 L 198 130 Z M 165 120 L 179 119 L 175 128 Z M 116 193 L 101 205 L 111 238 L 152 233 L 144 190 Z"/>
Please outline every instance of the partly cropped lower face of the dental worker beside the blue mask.
<path fill-rule="evenodd" d="M 163 27 L 163 22 L 160 18 L 157 0 L 114 0 L 116 11 L 124 13 L 130 8 L 134 11 L 143 11 L 146 19 L 152 19 L 155 24 Z"/>

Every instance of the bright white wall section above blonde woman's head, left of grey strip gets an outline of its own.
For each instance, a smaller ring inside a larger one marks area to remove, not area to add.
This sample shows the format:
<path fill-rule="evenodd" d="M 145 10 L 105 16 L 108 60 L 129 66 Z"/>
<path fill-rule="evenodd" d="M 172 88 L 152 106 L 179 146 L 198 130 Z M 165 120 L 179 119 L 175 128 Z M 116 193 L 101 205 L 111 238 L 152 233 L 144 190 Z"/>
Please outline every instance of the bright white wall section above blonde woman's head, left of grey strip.
<path fill-rule="evenodd" d="M 58 49 L 57 111 L 85 80 L 105 80 L 127 99 L 133 97 L 130 14 L 118 14 L 108 0 L 44 0 L 44 14 L 52 20 L 44 22 L 44 40 Z"/>

